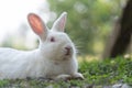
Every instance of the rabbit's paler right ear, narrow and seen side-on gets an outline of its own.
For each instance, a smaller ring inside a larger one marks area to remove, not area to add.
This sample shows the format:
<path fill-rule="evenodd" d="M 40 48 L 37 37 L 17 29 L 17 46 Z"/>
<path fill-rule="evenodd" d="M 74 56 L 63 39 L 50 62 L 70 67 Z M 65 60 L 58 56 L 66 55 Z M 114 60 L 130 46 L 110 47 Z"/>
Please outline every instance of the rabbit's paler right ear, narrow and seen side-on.
<path fill-rule="evenodd" d="M 54 22 L 52 30 L 64 32 L 66 24 L 67 12 L 63 12 Z"/>

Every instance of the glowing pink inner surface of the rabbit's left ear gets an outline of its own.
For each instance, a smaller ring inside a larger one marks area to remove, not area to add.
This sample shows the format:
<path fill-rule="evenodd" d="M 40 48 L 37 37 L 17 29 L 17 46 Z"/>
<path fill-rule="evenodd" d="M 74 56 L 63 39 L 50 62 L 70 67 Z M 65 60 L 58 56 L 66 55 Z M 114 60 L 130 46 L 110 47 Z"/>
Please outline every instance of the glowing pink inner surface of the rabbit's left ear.
<path fill-rule="evenodd" d="M 36 14 L 31 13 L 29 14 L 28 19 L 29 19 L 29 23 L 31 28 L 33 29 L 33 31 L 38 35 L 42 34 L 44 31 L 44 24 L 41 18 L 37 16 Z"/>

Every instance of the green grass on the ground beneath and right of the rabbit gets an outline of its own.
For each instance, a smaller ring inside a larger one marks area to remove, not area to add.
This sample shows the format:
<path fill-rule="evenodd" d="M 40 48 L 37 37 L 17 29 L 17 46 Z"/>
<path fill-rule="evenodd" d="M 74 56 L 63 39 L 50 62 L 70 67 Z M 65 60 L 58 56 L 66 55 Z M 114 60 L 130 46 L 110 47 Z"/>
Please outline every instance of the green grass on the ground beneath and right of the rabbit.
<path fill-rule="evenodd" d="M 105 61 L 81 61 L 79 72 L 85 76 L 84 80 L 73 79 L 67 81 L 38 80 L 38 79 L 16 79 L 0 80 L 0 88 L 69 88 L 85 87 L 86 85 L 113 85 L 117 82 L 132 85 L 132 59 L 117 57 Z M 99 87 L 98 87 L 99 88 Z M 101 87 L 100 87 L 101 88 Z"/>

